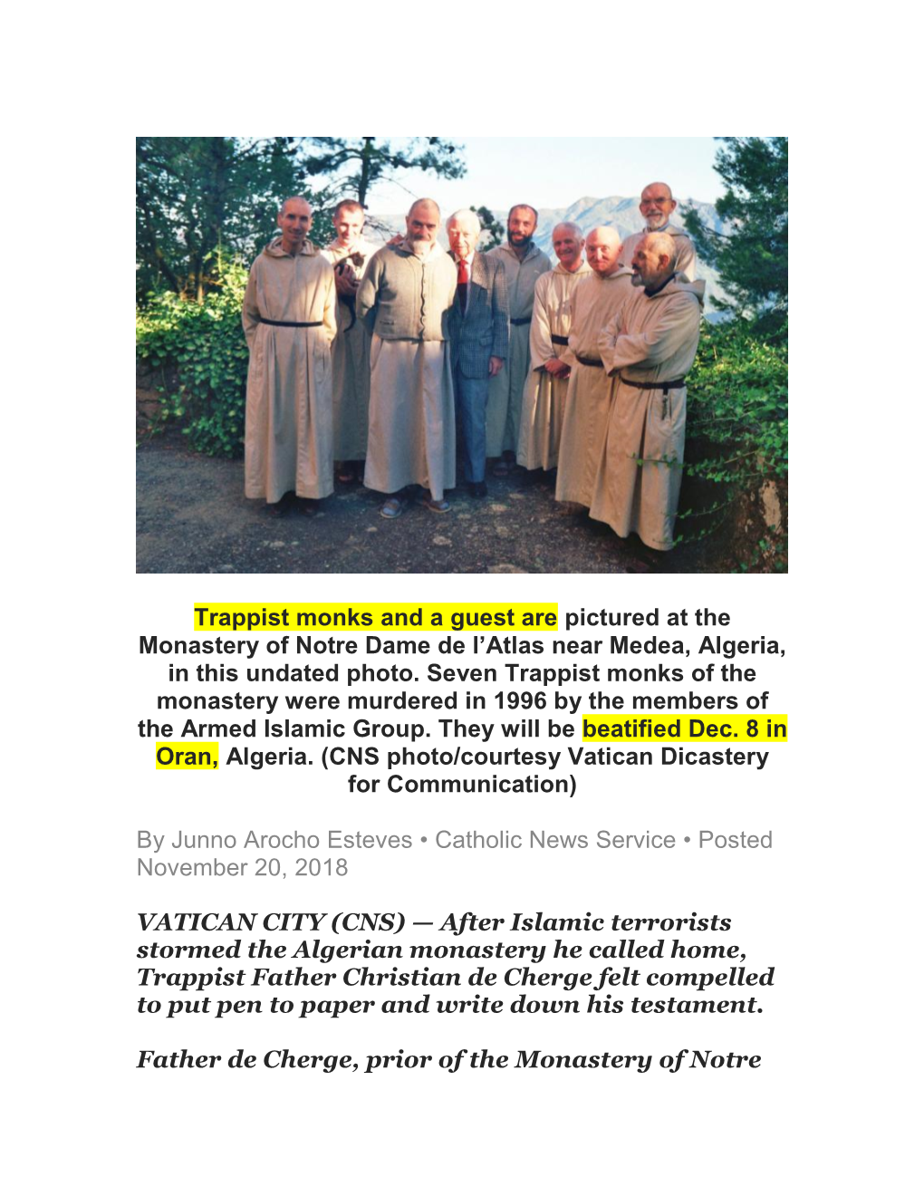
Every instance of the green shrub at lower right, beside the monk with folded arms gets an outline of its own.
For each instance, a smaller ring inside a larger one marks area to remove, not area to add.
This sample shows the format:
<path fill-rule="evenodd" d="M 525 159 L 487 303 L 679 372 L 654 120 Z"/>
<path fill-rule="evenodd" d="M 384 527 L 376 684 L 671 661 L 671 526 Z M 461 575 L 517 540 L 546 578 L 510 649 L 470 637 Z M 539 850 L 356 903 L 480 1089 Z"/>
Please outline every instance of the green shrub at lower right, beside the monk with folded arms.
<path fill-rule="evenodd" d="M 772 340 L 745 319 L 703 323 L 687 377 L 687 457 L 683 538 L 712 533 L 745 495 L 765 482 L 784 492 L 789 469 L 789 350 L 783 325 Z M 769 529 L 757 561 L 779 562 L 785 538 Z M 775 567 L 781 567 L 777 563 Z"/>

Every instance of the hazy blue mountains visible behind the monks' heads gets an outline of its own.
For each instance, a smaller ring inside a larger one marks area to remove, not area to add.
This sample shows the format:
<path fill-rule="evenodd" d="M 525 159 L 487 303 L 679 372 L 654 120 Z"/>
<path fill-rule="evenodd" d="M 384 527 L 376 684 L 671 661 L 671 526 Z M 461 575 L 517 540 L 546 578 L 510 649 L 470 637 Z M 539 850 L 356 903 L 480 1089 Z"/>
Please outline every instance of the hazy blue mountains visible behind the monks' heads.
<path fill-rule="evenodd" d="M 580 225 L 585 233 L 598 225 L 608 225 L 611 228 L 616 228 L 619 237 L 625 240 L 631 233 L 641 232 L 644 227 L 644 220 L 642 220 L 642 215 L 638 212 L 640 199 L 641 196 L 638 195 L 611 195 L 607 199 L 596 200 L 593 196 L 586 195 L 580 200 L 575 200 L 567 208 L 539 208 L 539 230 L 536 234 L 536 244 L 555 262 L 552 228 L 563 220 L 571 220 L 574 224 Z M 674 224 L 680 225 L 681 228 L 685 226 L 685 220 L 680 215 L 680 208 L 690 206 L 699 213 L 706 227 L 714 228 L 717 232 L 722 231 L 722 221 L 715 209 L 715 205 L 704 203 L 702 200 L 683 199 L 680 196 L 677 199 L 677 212 L 671 218 Z M 494 216 L 501 225 L 507 221 L 506 212 L 495 212 Z M 371 225 L 374 221 L 379 226 L 378 228 L 369 227 L 369 240 L 385 242 L 392 233 L 404 232 L 403 215 L 377 215 L 371 216 L 369 220 Z M 443 245 L 447 244 L 445 231 L 440 233 L 440 242 Z M 706 311 L 714 311 L 715 309 L 710 303 L 710 298 L 716 294 L 720 298 L 723 295 L 722 288 L 718 285 L 718 275 L 710 266 L 704 266 L 702 262 L 697 263 L 697 274 L 700 279 L 705 279 L 706 282 Z"/>

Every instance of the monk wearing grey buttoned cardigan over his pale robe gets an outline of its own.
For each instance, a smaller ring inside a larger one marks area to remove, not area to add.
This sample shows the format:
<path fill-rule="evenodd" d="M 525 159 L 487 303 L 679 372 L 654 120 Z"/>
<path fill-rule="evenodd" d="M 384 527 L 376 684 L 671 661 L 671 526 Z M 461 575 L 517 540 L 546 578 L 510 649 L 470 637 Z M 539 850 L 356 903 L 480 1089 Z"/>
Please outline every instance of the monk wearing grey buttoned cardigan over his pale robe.
<path fill-rule="evenodd" d="M 442 514 L 455 486 L 455 413 L 449 358 L 449 311 L 455 263 L 436 242 L 440 209 L 418 200 L 408 236 L 374 255 L 356 293 L 356 317 L 372 332 L 369 440 L 365 484 L 391 495 L 385 519 L 404 508 L 397 493 L 414 483 Z"/>

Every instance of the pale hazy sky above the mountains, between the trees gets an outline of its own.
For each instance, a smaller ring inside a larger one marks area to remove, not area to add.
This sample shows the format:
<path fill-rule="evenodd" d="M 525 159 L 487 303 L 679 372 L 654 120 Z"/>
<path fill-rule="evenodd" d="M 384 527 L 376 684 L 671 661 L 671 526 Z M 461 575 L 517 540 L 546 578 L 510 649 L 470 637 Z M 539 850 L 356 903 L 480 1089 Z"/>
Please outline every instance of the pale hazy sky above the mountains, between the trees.
<path fill-rule="evenodd" d="M 396 139 L 397 140 L 397 139 Z M 475 205 L 506 209 L 568 207 L 583 196 L 638 195 L 663 179 L 680 200 L 714 202 L 724 190 L 712 170 L 714 138 L 451 138 L 469 165 L 457 182 L 404 171 L 369 196 L 373 213 L 406 212 L 429 195 L 443 212 Z"/>

